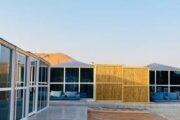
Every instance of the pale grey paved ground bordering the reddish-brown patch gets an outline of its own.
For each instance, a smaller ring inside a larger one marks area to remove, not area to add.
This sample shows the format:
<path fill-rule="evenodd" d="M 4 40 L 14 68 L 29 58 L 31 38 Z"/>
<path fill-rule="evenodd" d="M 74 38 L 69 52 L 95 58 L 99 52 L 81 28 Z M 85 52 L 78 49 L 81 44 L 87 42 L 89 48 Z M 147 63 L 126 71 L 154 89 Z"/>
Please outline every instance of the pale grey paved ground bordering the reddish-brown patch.
<path fill-rule="evenodd" d="M 47 110 L 29 120 L 87 120 L 87 108 L 148 111 L 168 120 L 180 120 L 180 103 L 127 104 L 120 102 L 61 101 L 51 102 Z"/>

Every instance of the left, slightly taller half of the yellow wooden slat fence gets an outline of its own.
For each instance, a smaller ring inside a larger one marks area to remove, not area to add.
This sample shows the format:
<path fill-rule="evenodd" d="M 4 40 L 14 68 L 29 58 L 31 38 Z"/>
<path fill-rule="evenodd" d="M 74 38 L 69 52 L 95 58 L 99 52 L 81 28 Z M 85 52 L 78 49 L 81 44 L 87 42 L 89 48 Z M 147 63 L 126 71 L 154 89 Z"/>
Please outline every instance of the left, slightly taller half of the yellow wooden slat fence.
<path fill-rule="evenodd" d="M 122 100 L 122 66 L 96 65 L 96 100 Z"/>

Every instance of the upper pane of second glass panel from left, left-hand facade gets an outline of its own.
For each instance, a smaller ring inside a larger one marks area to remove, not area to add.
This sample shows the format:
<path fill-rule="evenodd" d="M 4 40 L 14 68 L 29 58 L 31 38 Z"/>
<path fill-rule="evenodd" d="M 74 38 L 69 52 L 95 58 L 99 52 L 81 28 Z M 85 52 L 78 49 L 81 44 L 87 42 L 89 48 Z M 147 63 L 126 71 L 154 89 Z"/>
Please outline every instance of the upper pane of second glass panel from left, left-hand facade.
<path fill-rule="evenodd" d="M 18 54 L 17 57 L 16 86 L 26 86 L 26 56 Z"/>

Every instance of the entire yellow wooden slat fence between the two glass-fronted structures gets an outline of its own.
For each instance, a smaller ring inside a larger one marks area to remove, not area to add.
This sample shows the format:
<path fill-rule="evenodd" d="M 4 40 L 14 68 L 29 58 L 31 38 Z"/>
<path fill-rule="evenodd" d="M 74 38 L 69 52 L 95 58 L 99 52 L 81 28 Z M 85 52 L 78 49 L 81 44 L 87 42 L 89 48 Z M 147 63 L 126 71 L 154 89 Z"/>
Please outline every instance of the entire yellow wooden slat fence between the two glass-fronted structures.
<path fill-rule="evenodd" d="M 95 65 L 95 99 L 149 102 L 149 69 Z"/>

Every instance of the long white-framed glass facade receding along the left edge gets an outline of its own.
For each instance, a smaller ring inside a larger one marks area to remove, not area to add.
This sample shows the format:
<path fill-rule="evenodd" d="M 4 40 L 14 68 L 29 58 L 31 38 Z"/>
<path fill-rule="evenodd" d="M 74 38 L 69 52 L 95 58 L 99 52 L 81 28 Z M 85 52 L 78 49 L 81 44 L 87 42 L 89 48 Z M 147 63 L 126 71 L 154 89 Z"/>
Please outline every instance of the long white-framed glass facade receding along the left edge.
<path fill-rule="evenodd" d="M 21 120 L 48 107 L 49 63 L 0 39 L 0 120 Z"/>

